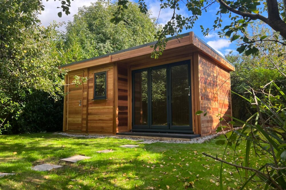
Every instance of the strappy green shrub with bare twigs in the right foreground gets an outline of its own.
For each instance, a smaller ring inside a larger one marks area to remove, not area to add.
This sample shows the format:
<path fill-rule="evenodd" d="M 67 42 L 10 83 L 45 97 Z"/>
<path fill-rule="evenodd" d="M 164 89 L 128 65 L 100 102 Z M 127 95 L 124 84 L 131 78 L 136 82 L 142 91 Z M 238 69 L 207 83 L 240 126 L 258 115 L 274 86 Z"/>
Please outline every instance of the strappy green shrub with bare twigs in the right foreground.
<path fill-rule="evenodd" d="M 267 89 L 267 87 L 269 89 Z M 272 92 L 275 89 L 275 92 Z M 250 88 L 248 93 L 251 97 L 244 98 L 257 110 L 248 120 L 243 121 L 235 117 L 231 117 L 238 123 L 243 124 L 242 130 L 233 130 L 231 136 L 226 140 L 218 140 L 217 144 L 225 144 L 225 153 L 222 158 L 204 154 L 208 157 L 232 165 L 236 168 L 245 170 L 245 180 L 241 177 L 243 185 L 240 189 L 247 186 L 248 183 L 256 183 L 258 188 L 263 189 L 285 189 L 286 188 L 286 95 L 283 90 L 273 81 L 269 82 L 258 91 Z M 259 98 L 259 96 L 261 98 Z M 198 112 L 197 114 L 201 114 Z M 220 121 L 223 121 L 220 120 Z M 234 122 L 230 122 L 234 124 Z M 231 129 L 230 126 L 221 126 L 219 130 Z M 237 149 L 242 142 L 246 142 L 245 160 L 237 162 Z M 250 151 L 253 147 L 254 151 Z M 234 162 L 224 160 L 226 152 L 230 154 L 233 151 Z M 263 165 L 250 165 L 250 155 L 264 157 L 267 159 Z M 221 166 L 221 173 L 223 167 Z M 241 174 L 240 174 L 241 175 Z M 222 175 L 221 180 L 223 181 Z M 222 189 L 221 182 L 221 189 Z"/>

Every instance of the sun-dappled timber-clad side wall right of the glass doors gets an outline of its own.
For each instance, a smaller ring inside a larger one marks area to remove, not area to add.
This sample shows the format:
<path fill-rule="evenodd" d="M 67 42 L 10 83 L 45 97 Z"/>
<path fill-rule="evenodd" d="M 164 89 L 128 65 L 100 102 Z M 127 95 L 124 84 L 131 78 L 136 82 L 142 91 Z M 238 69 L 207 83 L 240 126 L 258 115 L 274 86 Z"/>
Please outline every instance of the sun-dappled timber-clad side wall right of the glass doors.
<path fill-rule="evenodd" d="M 219 126 L 218 114 L 226 120 L 231 119 L 230 73 L 216 62 L 199 54 L 199 95 L 200 109 L 206 110 L 206 116 L 201 115 L 201 135 L 215 133 Z M 226 122 L 222 123 L 226 125 Z"/>

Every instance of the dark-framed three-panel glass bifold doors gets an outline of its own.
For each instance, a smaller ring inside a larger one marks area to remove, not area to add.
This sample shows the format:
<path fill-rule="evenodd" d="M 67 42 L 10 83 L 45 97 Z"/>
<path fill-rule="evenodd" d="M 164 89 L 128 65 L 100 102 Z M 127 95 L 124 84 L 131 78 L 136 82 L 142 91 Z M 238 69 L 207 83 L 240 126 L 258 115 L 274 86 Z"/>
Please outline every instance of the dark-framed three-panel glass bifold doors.
<path fill-rule="evenodd" d="M 132 130 L 192 133 L 190 60 L 132 71 Z"/>

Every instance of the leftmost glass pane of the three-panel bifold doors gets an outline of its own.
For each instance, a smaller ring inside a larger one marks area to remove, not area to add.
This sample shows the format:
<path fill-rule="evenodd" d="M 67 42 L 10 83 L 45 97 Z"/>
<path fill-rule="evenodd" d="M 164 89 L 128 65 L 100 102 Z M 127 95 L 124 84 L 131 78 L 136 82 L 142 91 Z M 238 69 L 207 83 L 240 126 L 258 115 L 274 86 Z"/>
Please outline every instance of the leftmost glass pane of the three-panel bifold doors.
<path fill-rule="evenodd" d="M 136 72 L 133 76 L 134 125 L 148 127 L 148 72 Z"/>

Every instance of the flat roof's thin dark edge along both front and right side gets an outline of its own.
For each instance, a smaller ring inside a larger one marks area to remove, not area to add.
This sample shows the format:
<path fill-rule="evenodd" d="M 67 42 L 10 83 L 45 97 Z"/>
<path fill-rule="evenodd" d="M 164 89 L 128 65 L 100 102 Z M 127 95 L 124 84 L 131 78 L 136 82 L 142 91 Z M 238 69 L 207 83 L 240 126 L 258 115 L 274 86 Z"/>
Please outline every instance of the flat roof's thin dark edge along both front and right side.
<path fill-rule="evenodd" d="M 189 36 L 189 35 L 190 35 L 189 32 L 188 33 L 183 33 L 183 34 L 180 35 L 180 37 Z M 231 64 L 234 67 L 234 65 L 231 62 L 229 62 L 224 56 L 222 56 L 214 48 L 210 47 L 206 42 L 204 42 L 202 39 L 200 39 L 197 35 L 194 34 L 194 37 L 196 39 L 198 39 L 200 42 L 202 42 L 204 45 L 209 47 L 212 51 L 214 51 L 216 54 L 218 54 L 218 56 L 223 58 L 225 61 L 227 61 L 229 64 Z M 168 40 L 173 40 L 173 39 L 176 39 L 176 38 L 177 38 L 176 36 L 173 36 L 173 37 L 169 37 Z M 82 63 L 82 62 L 86 62 L 86 61 L 91 61 L 91 60 L 94 60 L 94 59 L 103 58 L 103 57 L 107 57 L 107 56 L 110 56 L 110 55 L 114 55 L 114 54 L 130 51 L 130 50 L 134 50 L 134 49 L 138 49 L 138 48 L 142 48 L 142 47 L 146 47 L 146 46 L 151 46 L 151 45 L 154 45 L 156 43 L 157 43 L 157 41 L 153 41 L 153 42 L 142 44 L 142 45 L 139 45 L 139 46 L 134 46 L 134 47 L 130 47 L 130 48 L 127 48 L 127 49 L 123 49 L 123 50 L 107 53 L 107 54 L 104 54 L 104 55 L 99 55 L 99 56 L 96 56 L 96 57 L 92 57 L 92 58 L 88 58 L 88 59 L 84 59 L 84 60 L 80 60 L 80 61 L 75 61 L 75 62 L 68 63 L 68 64 L 63 64 L 63 65 L 61 65 L 61 67 L 65 67 L 65 66 L 69 66 L 69 65 L 73 65 L 73 64 L 77 64 L 77 63 Z"/>

